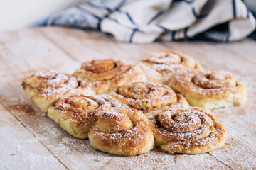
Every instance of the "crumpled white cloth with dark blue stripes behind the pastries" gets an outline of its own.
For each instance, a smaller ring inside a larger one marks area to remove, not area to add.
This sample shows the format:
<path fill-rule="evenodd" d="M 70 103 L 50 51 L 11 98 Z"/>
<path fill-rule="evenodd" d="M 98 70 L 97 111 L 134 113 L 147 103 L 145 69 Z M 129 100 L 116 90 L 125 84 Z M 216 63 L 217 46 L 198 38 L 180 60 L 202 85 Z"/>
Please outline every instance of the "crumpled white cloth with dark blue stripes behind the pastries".
<path fill-rule="evenodd" d="M 255 30 L 255 18 L 242 0 L 91 0 L 36 26 L 100 30 L 122 42 L 232 42 Z"/>

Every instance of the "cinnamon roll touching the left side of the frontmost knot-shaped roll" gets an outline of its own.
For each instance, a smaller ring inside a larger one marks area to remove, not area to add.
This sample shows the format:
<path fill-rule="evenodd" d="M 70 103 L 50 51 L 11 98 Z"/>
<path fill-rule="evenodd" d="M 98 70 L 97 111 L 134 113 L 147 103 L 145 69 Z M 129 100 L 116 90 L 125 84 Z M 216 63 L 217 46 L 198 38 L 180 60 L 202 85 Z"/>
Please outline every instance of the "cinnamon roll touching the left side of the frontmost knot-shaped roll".
<path fill-rule="evenodd" d="M 47 115 L 70 135 L 87 139 L 98 114 L 112 106 L 117 106 L 117 103 L 110 101 L 107 96 L 70 95 L 55 101 Z"/>

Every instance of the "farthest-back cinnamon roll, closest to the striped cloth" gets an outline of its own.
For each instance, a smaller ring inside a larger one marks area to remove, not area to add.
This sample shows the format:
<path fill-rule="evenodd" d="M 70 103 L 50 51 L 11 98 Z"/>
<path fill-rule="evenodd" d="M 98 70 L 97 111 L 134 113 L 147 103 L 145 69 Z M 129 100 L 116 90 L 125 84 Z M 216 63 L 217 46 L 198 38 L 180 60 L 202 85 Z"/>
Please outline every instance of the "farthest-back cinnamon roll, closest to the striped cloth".
<path fill-rule="evenodd" d="M 163 84 L 168 82 L 172 74 L 183 69 L 202 69 L 192 57 L 176 51 L 154 52 L 139 65 L 149 81 Z"/>

